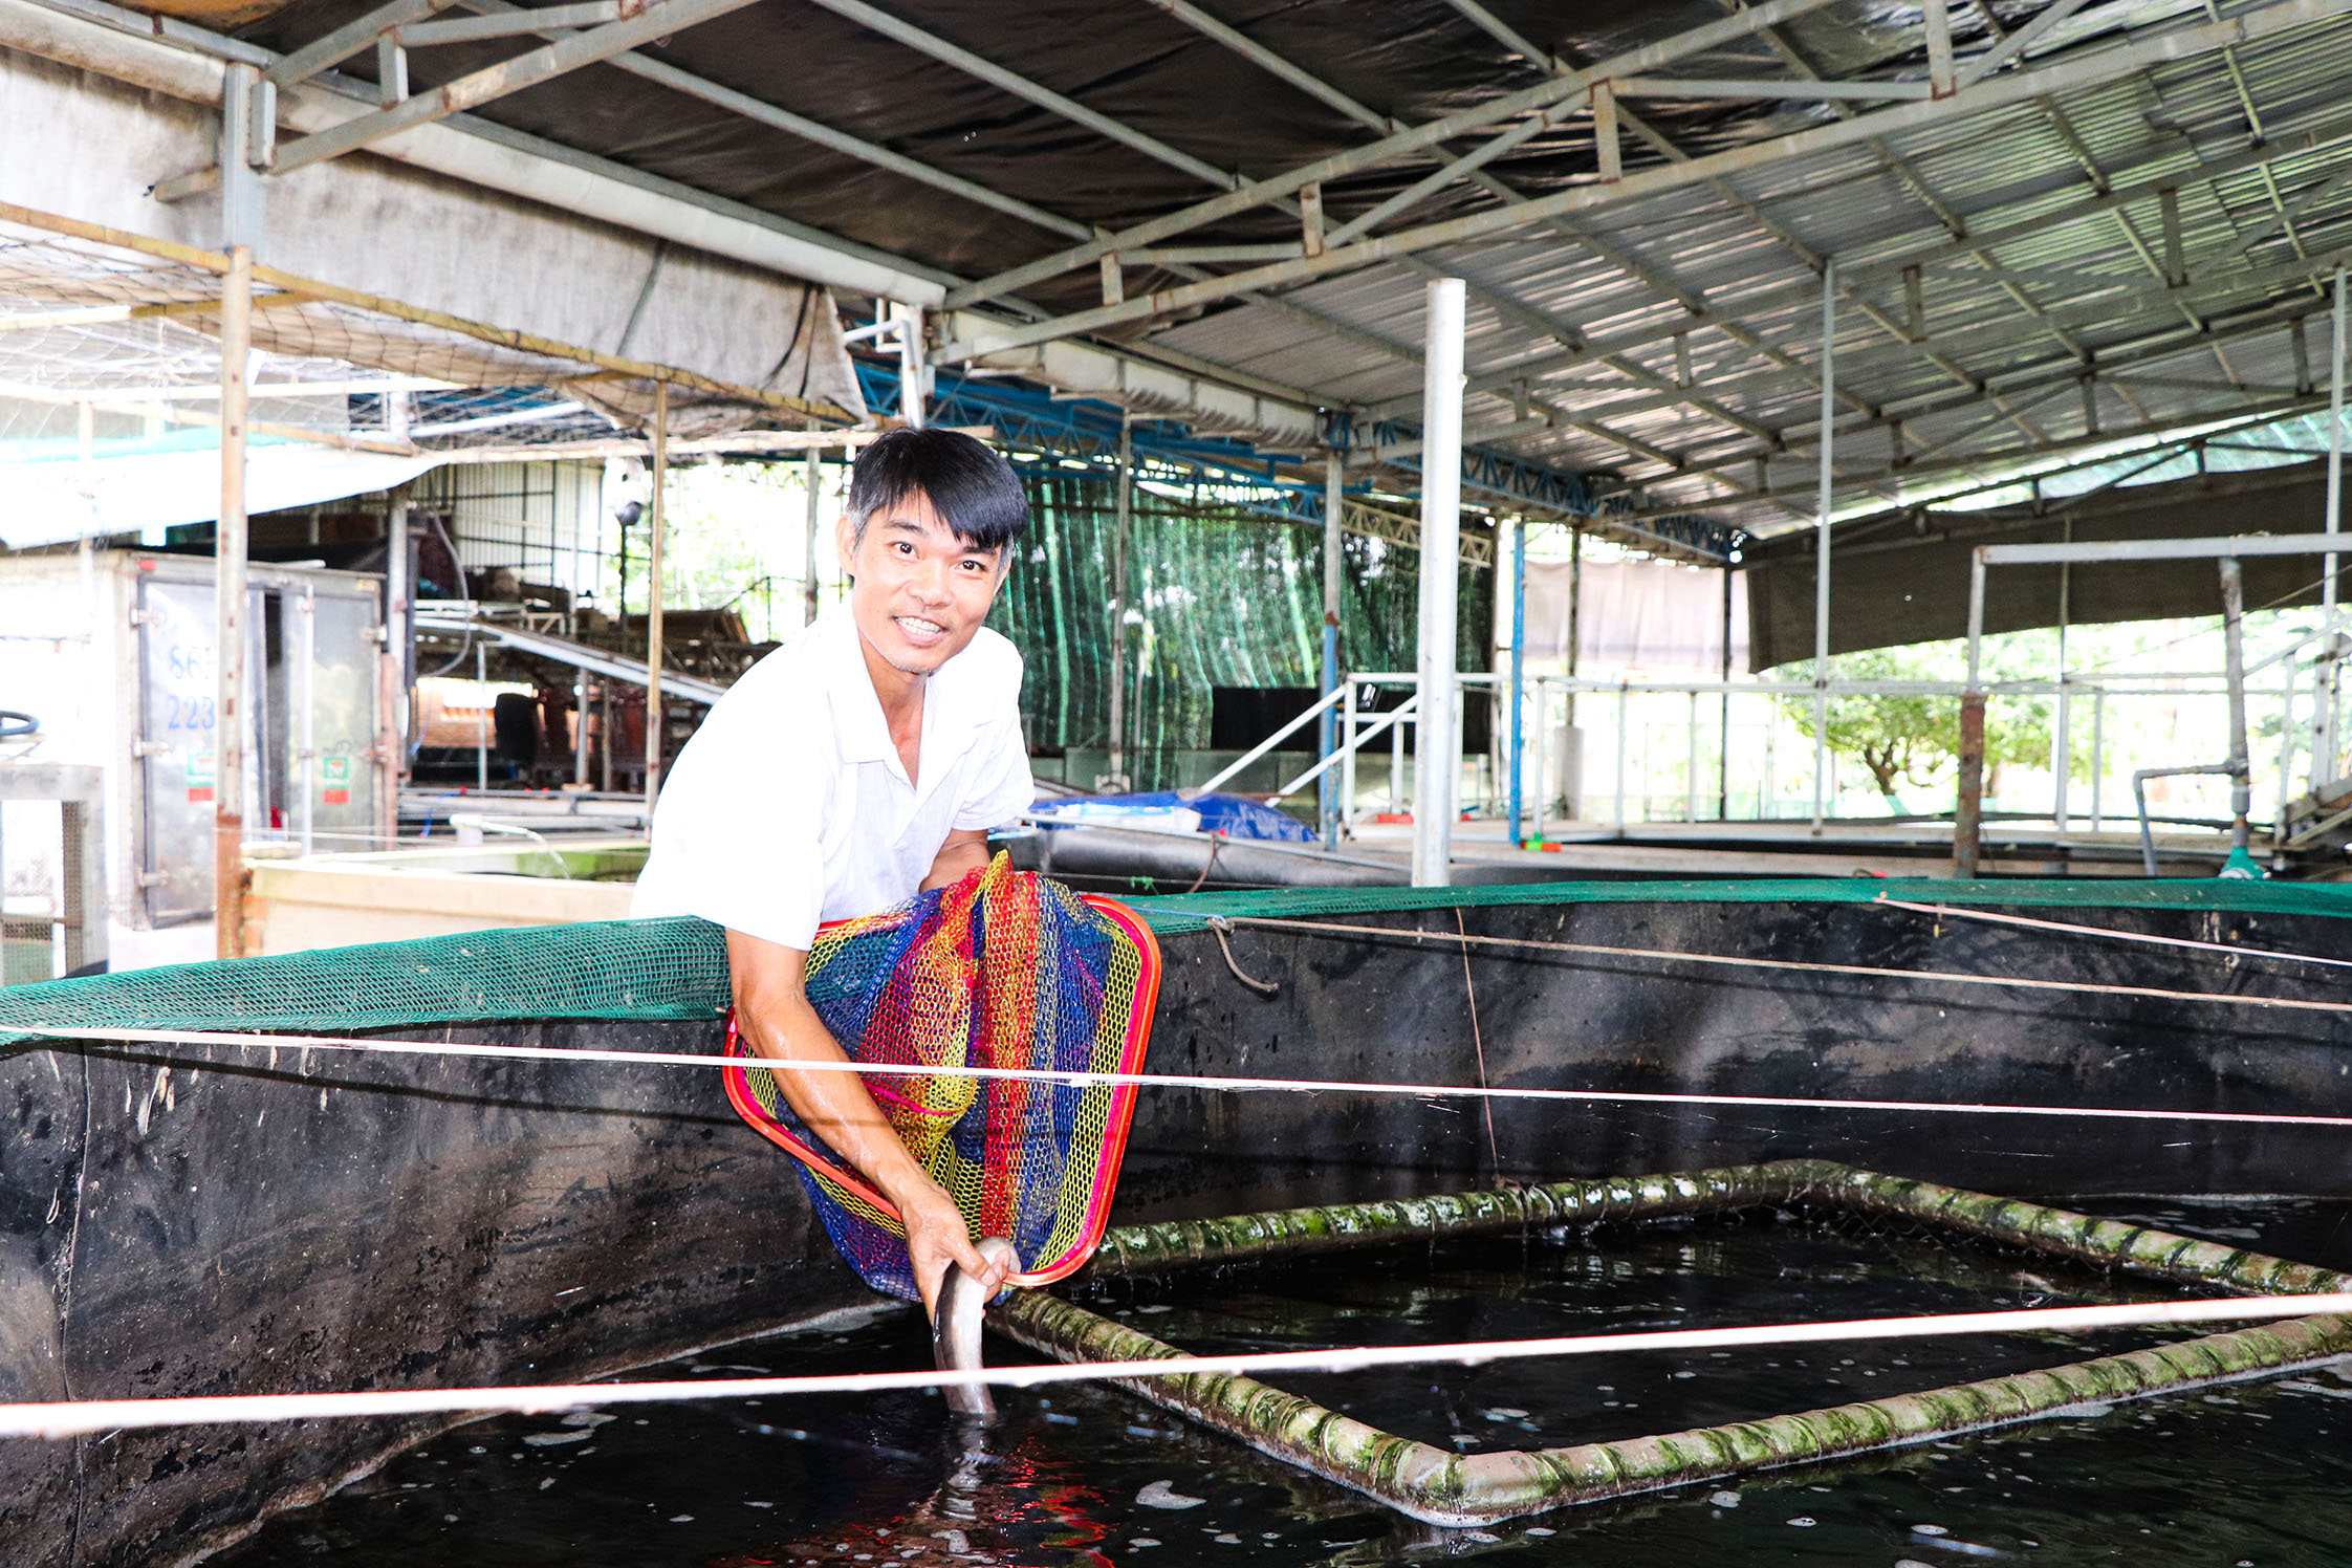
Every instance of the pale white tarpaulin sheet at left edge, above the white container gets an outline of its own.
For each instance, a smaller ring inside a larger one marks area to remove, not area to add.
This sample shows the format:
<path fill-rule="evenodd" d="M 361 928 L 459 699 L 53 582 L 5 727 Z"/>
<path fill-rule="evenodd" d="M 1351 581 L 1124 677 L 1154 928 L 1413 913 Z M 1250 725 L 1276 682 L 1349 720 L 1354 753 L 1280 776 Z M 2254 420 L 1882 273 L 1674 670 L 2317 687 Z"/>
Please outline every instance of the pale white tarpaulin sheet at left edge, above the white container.
<path fill-rule="evenodd" d="M 407 484 L 440 456 L 381 456 L 256 435 L 245 451 L 245 505 L 278 512 Z M 221 449 L 139 451 L 111 458 L 0 456 L 0 543 L 12 550 L 71 538 L 136 534 L 221 515 Z"/>

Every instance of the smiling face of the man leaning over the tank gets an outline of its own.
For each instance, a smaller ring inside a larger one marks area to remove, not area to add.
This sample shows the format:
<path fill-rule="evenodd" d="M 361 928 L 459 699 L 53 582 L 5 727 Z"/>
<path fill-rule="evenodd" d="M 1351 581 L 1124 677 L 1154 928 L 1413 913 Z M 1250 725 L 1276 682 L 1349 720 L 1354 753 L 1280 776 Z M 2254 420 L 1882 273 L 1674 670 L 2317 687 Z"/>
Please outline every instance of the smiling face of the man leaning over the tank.
<path fill-rule="evenodd" d="M 1002 550 L 957 538 L 920 489 L 868 517 L 863 538 L 842 517 L 835 543 L 858 637 L 901 675 L 929 675 L 962 654 L 1004 576 Z"/>

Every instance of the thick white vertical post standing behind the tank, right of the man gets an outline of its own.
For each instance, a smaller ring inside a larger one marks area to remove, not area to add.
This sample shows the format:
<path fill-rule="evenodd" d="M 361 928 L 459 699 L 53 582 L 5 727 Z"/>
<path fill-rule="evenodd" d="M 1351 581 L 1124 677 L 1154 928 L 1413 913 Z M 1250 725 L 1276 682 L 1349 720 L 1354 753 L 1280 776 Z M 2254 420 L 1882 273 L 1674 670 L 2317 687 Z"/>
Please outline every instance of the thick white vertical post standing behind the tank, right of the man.
<path fill-rule="evenodd" d="M 1432 277 L 1421 381 L 1421 715 L 1414 722 L 1414 886 L 1454 879 L 1454 616 L 1461 578 L 1463 280 Z"/>

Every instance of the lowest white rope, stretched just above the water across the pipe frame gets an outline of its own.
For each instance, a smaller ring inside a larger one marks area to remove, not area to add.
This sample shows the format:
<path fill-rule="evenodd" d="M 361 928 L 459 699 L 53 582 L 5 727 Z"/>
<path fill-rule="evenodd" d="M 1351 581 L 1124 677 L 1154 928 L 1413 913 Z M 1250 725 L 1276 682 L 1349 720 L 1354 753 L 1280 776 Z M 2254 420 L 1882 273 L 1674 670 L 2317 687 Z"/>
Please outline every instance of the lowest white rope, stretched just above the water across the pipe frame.
<path fill-rule="evenodd" d="M 1858 1340 L 1924 1340 L 1976 1333 L 2089 1333 L 2173 1324 L 2265 1321 L 2352 1312 L 2352 1293 L 2241 1295 L 2230 1300 L 2129 1302 L 2112 1307 L 2027 1307 L 2016 1312 L 1950 1312 L 1929 1316 L 1849 1319 L 1839 1324 L 1771 1324 L 1755 1328 L 1665 1328 L 1646 1333 L 1562 1335 L 1548 1340 L 1475 1340 L 1458 1345 L 1350 1345 L 1341 1349 L 1282 1349 L 1240 1356 L 1176 1356 L 1152 1361 L 1080 1361 L 1070 1366 L 990 1366 L 974 1371 L 830 1373 L 811 1378 L 696 1378 L 670 1382 L 560 1382 L 485 1389 L 395 1389 L 339 1394 L 209 1394 L 193 1399 L 73 1399 L 0 1403 L 0 1439 L 80 1436 L 127 1427 L 212 1427 L 228 1422 L 339 1420 L 383 1415 L 576 1410 L 586 1406 L 673 1403 L 682 1399 L 776 1399 L 788 1394 L 882 1394 L 995 1385 L 1035 1389 L 1056 1382 L 1117 1378 L 1355 1373 L 1376 1366 L 1484 1366 L 1538 1356 L 1602 1356 L 1658 1349 L 1738 1349 L 1759 1345 L 1851 1345 Z"/>

